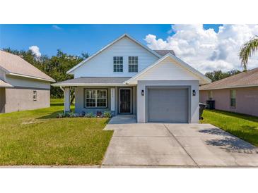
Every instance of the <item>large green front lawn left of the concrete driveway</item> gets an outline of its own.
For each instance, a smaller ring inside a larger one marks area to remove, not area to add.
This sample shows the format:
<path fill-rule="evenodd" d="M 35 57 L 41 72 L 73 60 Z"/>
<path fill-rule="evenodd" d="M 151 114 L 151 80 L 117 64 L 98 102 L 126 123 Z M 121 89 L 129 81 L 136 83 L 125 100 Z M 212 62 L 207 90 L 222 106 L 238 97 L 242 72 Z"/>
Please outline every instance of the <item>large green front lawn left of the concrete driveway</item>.
<path fill-rule="evenodd" d="M 74 107 L 72 107 L 74 108 Z M 107 118 L 56 118 L 50 108 L 0 114 L 0 165 L 95 165 L 102 162 L 112 131 Z"/>

